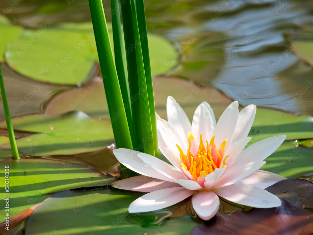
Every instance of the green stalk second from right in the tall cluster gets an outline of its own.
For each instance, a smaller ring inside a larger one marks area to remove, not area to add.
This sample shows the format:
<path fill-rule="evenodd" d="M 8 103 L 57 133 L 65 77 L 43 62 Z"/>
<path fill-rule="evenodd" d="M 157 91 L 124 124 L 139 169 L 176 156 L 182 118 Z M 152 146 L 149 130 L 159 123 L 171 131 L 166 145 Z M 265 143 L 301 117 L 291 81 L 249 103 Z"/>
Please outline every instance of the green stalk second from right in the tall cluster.
<path fill-rule="evenodd" d="M 155 156 L 145 67 L 144 67 L 144 62 L 143 62 L 143 57 L 142 57 L 140 34 L 139 34 L 139 28 L 138 28 L 138 22 L 137 22 L 136 5 L 135 5 L 134 0 L 131 0 L 131 16 L 133 19 L 133 30 L 134 30 L 134 39 L 135 39 L 138 86 L 142 91 L 141 95 L 139 96 L 141 112 L 137 114 L 138 115 L 137 119 L 139 119 L 140 121 L 139 136 L 142 140 L 144 152 L 146 154 Z"/>

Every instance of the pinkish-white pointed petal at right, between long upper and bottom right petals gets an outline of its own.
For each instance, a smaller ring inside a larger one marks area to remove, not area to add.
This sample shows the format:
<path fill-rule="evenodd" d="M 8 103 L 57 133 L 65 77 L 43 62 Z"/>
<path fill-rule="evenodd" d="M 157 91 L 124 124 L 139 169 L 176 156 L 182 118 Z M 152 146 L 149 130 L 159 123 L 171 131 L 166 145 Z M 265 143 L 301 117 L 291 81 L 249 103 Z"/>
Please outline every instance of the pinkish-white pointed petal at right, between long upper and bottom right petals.
<path fill-rule="evenodd" d="M 285 180 L 286 178 L 277 175 L 272 172 L 268 172 L 265 170 L 258 170 L 254 172 L 252 175 L 249 175 L 248 177 L 239 180 L 238 182 L 234 183 L 235 185 L 251 185 L 256 186 L 262 189 L 265 189 L 281 180 Z"/>

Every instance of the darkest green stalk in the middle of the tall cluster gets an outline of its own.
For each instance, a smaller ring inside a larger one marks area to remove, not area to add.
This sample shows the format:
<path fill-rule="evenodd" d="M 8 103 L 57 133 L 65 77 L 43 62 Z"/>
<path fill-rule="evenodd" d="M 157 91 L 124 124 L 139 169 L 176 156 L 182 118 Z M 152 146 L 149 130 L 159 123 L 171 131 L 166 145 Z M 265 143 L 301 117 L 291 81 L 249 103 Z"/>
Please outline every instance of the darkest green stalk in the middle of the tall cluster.
<path fill-rule="evenodd" d="M 122 18 L 123 18 L 123 31 L 126 50 L 127 72 L 129 81 L 129 93 L 131 97 L 131 114 L 133 120 L 134 130 L 139 130 L 140 121 L 137 116 L 140 113 L 140 100 L 138 98 L 140 91 L 138 86 L 137 62 L 136 52 L 134 50 L 135 38 L 133 30 L 133 19 L 131 17 L 131 2 L 126 0 L 121 4 Z M 121 56 L 124 56 L 121 55 Z M 134 150 L 143 151 L 141 139 L 138 134 L 134 135 L 131 139 Z"/>

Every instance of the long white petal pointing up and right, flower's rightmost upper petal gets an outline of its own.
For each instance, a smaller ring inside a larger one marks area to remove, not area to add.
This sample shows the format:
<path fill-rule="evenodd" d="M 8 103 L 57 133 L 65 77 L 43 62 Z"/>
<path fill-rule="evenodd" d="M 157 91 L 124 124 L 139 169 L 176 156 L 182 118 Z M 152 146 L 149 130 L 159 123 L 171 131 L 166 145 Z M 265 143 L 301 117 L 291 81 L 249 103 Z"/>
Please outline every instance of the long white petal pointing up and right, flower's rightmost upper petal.
<path fill-rule="evenodd" d="M 285 138 L 285 135 L 279 135 L 277 137 L 273 136 L 251 144 L 248 148 L 244 149 L 244 151 L 238 153 L 235 162 L 233 162 L 230 167 L 236 168 L 250 162 L 263 161 L 275 152 L 275 150 L 284 142 Z"/>

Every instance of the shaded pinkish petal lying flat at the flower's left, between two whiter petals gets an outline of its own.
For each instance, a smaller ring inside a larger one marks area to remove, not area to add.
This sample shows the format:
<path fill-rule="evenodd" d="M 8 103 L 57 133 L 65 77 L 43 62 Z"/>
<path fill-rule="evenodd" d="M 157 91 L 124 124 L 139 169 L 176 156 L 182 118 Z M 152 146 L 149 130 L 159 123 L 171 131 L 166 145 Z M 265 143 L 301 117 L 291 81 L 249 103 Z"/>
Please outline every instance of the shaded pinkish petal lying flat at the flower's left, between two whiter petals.
<path fill-rule="evenodd" d="M 150 193 L 160 189 L 178 187 L 177 183 L 138 175 L 124 180 L 118 180 L 111 184 L 112 187 L 122 190 L 131 190 Z"/>

